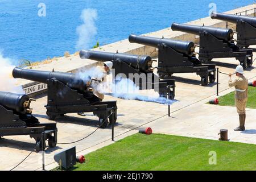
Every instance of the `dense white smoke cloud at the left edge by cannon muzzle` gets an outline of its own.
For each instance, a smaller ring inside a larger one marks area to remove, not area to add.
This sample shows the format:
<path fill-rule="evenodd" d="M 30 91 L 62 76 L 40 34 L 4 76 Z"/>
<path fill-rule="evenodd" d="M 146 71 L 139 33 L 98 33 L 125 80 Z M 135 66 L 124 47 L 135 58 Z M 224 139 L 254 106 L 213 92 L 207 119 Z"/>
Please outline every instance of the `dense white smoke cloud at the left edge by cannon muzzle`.
<path fill-rule="evenodd" d="M 0 51 L 0 91 L 24 93 L 22 86 L 16 86 L 17 82 L 11 75 L 15 67 L 11 62 L 12 60 L 4 57 Z"/>

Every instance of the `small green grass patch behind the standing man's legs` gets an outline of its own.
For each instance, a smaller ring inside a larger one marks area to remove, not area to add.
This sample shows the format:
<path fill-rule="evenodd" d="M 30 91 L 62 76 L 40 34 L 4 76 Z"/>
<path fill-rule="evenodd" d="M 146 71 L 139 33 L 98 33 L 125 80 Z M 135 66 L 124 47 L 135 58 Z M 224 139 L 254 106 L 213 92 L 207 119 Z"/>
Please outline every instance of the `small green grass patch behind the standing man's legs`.
<path fill-rule="evenodd" d="M 235 106 L 234 92 L 226 94 L 218 98 L 218 105 L 221 106 Z M 246 104 L 247 108 L 256 109 L 256 87 L 248 87 L 248 101 Z"/>

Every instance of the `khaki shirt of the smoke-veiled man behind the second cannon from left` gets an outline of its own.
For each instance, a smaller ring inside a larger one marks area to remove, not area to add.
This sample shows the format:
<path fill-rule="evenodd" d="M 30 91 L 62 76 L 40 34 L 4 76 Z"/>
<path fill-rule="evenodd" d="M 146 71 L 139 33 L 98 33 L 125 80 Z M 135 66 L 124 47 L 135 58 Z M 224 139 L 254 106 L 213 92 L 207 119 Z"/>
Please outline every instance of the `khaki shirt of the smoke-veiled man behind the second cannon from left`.
<path fill-rule="evenodd" d="M 106 76 L 108 75 L 108 73 L 105 71 L 104 67 L 96 67 L 97 69 L 97 73 L 101 73 L 99 74 L 97 77 L 94 77 L 94 79 L 98 80 L 98 81 L 92 81 L 92 88 L 93 88 L 93 94 L 95 96 L 97 96 L 100 99 L 104 99 L 104 94 L 100 93 L 100 84 L 104 84 L 104 82 L 106 82 Z M 97 89 L 98 88 L 98 89 Z"/>

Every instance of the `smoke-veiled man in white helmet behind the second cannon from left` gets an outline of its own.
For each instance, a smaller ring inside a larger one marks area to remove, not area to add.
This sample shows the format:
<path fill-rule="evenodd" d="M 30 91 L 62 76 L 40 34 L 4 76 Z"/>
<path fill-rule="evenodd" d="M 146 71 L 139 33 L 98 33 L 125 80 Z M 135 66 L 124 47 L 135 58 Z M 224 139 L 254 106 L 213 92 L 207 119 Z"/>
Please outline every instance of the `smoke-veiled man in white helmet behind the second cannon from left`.
<path fill-rule="evenodd" d="M 106 76 L 110 74 L 110 69 L 112 69 L 113 63 L 111 61 L 104 62 L 104 67 L 96 67 L 97 76 L 93 77 L 92 80 L 87 82 L 87 86 L 91 86 L 93 89 L 93 95 L 91 98 L 88 98 L 91 104 L 95 104 L 96 102 L 101 102 L 104 99 L 104 94 L 100 93 L 100 84 L 104 84 L 106 82 Z M 78 115 L 85 116 L 84 113 L 79 112 Z"/>

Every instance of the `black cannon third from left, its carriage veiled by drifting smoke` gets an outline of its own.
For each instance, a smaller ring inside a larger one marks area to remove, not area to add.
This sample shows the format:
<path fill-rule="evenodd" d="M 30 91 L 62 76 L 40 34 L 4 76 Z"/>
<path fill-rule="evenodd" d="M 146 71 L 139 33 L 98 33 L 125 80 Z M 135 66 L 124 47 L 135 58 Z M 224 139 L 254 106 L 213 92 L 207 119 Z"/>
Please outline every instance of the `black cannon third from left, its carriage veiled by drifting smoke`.
<path fill-rule="evenodd" d="M 101 62 L 112 61 L 115 80 L 118 80 L 120 76 L 129 78 L 141 90 L 154 89 L 161 97 L 174 100 L 175 80 L 160 80 L 159 76 L 153 72 L 153 60 L 150 56 L 81 50 L 80 57 Z"/>

